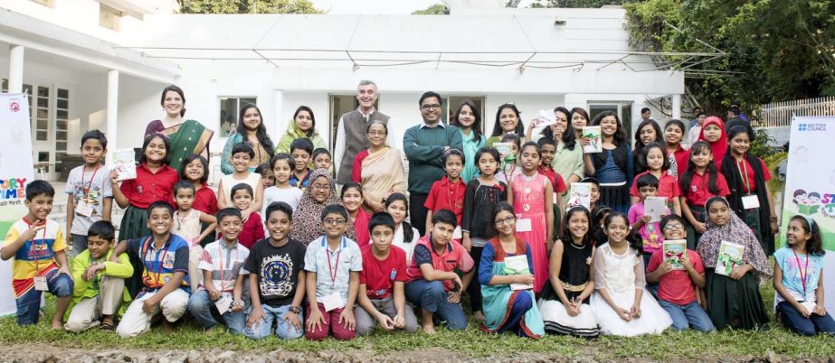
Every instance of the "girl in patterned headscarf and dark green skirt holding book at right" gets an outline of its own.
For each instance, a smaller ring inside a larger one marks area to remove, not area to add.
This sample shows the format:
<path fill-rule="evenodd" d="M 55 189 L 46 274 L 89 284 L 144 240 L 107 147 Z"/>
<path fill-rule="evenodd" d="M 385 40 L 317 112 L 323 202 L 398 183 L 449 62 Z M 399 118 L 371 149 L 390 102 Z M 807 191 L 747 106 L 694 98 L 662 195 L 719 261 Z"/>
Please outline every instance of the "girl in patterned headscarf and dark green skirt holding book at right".
<path fill-rule="evenodd" d="M 718 330 L 757 329 L 768 323 L 759 283 L 771 277 L 771 267 L 754 232 L 736 217 L 722 197 L 707 200 L 707 231 L 696 252 L 705 265 L 707 314 Z M 727 275 L 717 266 L 724 242 L 740 246 L 738 264 Z"/>

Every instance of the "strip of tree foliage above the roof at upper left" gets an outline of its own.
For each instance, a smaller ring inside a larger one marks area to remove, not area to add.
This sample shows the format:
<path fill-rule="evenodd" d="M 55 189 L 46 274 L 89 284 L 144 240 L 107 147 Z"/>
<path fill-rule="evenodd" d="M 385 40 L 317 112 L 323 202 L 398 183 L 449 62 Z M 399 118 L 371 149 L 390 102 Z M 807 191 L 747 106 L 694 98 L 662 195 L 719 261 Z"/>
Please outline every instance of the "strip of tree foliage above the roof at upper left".
<path fill-rule="evenodd" d="M 182 14 L 324 14 L 310 0 L 179 0 Z"/>

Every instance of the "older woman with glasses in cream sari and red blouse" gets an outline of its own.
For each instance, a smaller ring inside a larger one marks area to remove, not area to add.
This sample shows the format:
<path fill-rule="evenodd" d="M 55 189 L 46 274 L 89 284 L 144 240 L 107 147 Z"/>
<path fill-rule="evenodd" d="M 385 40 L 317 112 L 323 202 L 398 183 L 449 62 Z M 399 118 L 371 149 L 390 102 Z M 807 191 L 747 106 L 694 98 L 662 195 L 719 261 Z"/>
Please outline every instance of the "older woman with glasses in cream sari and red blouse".
<path fill-rule="evenodd" d="M 365 128 L 370 147 L 356 154 L 351 180 L 363 187 L 365 208 L 384 211 L 385 199 L 406 192 L 406 173 L 400 151 L 385 144 L 388 127 L 374 121 Z"/>

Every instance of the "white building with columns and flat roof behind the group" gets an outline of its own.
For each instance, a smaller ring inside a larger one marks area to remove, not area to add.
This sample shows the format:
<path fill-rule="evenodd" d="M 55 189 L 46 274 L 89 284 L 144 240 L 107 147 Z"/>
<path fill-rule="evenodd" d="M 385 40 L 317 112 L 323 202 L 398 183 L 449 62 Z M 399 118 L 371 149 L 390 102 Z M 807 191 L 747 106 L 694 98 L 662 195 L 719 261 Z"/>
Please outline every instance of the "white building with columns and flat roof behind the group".
<path fill-rule="evenodd" d="M 107 130 L 111 150 L 138 147 L 147 123 L 165 116 L 168 84 L 185 89 L 186 118 L 216 131 L 213 153 L 223 116 L 237 119 L 247 101 L 274 141 L 307 105 L 332 143 L 327 130 L 355 107 L 361 79 L 379 85 L 379 109 L 401 135 L 421 121 L 426 90 L 452 108 L 476 101 L 487 133 L 507 102 L 526 123 L 565 106 L 614 109 L 637 126 L 656 98 L 680 115 L 684 73 L 631 51 L 621 8 L 462 3 L 447 2 L 449 15 L 195 15 L 176 14 L 176 0 L 0 0 L 0 76 L 4 92 L 33 97 L 33 160 L 51 179 L 86 130 Z"/>

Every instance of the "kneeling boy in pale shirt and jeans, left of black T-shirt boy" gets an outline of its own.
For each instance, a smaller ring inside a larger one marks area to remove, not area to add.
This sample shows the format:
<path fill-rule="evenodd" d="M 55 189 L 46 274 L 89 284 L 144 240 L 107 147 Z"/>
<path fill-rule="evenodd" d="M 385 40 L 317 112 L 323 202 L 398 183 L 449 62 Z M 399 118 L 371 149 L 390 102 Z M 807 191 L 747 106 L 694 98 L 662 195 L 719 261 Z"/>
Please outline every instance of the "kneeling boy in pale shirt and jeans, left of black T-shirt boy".
<path fill-rule="evenodd" d="M 238 243 L 242 219 L 238 209 L 224 208 L 217 212 L 222 237 L 206 245 L 197 265 L 203 279 L 200 289 L 188 299 L 188 312 L 206 332 L 217 325 L 213 312 L 223 318 L 232 334 L 242 334 L 245 327 L 243 279 L 249 273 L 243 264 L 250 250 Z"/>

